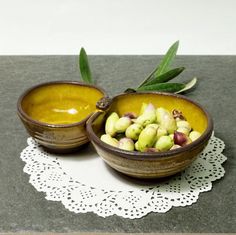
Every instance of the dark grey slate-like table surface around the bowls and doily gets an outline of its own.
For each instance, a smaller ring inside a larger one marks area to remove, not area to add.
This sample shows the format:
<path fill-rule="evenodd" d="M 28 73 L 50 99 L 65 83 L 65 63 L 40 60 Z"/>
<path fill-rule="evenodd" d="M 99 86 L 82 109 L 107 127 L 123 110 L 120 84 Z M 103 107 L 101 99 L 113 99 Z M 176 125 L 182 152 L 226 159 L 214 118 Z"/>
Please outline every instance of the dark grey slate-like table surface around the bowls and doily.
<path fill-rule="evenodd" d="M 90 56 L 93 76 L 110 96 L 135 87 L 159 63 L 160 56 Z M 186 96 L 211 113 L 215 135 L 226 144 L 224 178 L 200 194 L 197 203 L 141 219 L 75 214 L 60 202 L 45 199 L 23 173 L 20 152 L 26 133 L 16 115 L 19 95 L 32 85 L 53 80 L 80 80 L 76 56 L 0 57 L 0 232 L 236 232 L 235 104 L 236 56 L 179 56 L 186 71 L 176 81 L 198 77 Z"/>

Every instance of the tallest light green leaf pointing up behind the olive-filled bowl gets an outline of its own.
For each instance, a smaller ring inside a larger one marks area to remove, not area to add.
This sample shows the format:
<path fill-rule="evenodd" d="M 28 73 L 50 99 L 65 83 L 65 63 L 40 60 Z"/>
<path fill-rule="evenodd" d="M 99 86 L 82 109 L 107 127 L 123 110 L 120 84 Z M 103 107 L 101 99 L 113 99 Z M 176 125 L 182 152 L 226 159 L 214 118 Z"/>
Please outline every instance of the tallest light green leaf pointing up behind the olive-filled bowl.
<path fill-rule="evenodd" d="M 169 50 L 165 54 L 164 58 L 162 59 L 158 70 L 155 73 L 155 77 L 158 77 L 159 75 L 161 75 L 162 73 L 165 73 L 168 70 L 169 65 L 171 64 L 172 60 L 174 59 L 174 57 L 176 55 L 178 47 L 179 47 L 179 41 L 175 42 L 169 48 Z"/>

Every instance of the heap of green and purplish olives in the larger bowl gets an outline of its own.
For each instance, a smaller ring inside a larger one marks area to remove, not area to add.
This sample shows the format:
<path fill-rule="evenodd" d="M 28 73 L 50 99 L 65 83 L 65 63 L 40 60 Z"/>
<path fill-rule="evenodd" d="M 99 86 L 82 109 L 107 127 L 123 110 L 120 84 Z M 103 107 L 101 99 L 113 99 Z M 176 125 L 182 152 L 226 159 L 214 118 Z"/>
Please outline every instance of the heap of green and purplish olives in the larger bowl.
<path fill-rule="evenodd" d="M 185 146 L 200 137 L 181 111 L 155 108 L 143 103 L 140 115 L 116 112 L 106 119 L 101 140 L 114 147 L 140 152 L 167 151 Z"/>

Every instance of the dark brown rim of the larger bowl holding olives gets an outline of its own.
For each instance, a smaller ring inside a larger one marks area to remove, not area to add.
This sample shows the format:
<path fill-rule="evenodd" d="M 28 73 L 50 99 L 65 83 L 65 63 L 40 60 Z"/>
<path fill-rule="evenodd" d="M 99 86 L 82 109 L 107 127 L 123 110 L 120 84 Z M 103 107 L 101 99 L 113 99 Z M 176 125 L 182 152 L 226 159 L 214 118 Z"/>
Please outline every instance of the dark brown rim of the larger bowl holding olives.
<path fill-rule="evenodd" d="M 157 94 L 157 95 L 164 95 L 164 96 L 172 96 L 172 97 L 175 97 L 178 99 L 184 99 L 184 100 L 194 104 L 195 106 L 197 106 L 198 108 L 200 108 L 203 111 L 203 113 L 205 114 L 205 116 L 207 118 L 207 123 L 208 123 L 207 128 L 198 139 L 196 139 L 192 143 L 190 143 L 186 146 L 183 146 L 181 148 L 172 149 L 172 150 L 163 151 L 163 152 L 156 152 L 156 153 L 127 151 L 127 150 L 113 147 L 109 144 L 106 144 L 105 142 L 102 142 L 100 140 L 100 138 L 98 138 L 98 136 L 95 134 L 95 132 L 92 129 L 92 123 L 96 118 L 99 117 L 99 115 L 104 113 L 104 111 L 100 111 L 100 112 L 97 112 L 94 115 L 92 115 L 86 124 L 87 134 L 88 134 L 88 137 L 91 142 L 95 142 L 102 149 L 105 149 L 106 151 L 108 151 L 110 153 L 119 155 L 120 157 L 125 158 L 125 159 L 133 159 L 133 160 L 140 160 L 140 161 L 151 160 L 152 161 L 154 159 L 160 159 L 160 158 L 165 158 L 165 159 L 172 158 L 174 155 L 193 150 L 193 149 L 197 148 L 201 143 L 204 143 L 205 141 L 209 140 L 209 138 L 213 132 L 213 120 L 211 118 L 211 115 L 208 113 L 208 111 L 202 105 L 200 105 L 198 102 L 193 101 L 190 98 L 185 97 L 183 95 L 167 93 L 167 92 L 155 92 L 155 91 L 151 91 L 151 92 L 140 91 L 140 92 L 135 92 L 135 93 L 122 93 L 122 94 L 119 94 L 119 95 L 116 95 L 115 97 L 113 97 L 112 100 L 118 99 L 121 96 L 135 95 L 135 94 Z"/>

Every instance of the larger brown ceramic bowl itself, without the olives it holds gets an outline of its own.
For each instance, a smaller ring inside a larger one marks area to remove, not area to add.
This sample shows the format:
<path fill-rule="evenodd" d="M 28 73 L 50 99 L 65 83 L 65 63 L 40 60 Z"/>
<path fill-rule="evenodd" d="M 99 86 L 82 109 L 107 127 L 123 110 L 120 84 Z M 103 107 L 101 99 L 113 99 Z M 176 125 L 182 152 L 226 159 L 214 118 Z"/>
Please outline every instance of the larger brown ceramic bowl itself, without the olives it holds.
<path fill-rule="evenodd" d="M 170 111 L 181 110 L 193 129 L 202 133 L 201 137 L 185 147 L 157 153 L 125 151 L 100 140 L 106 117 L 111 112 L 119 115 L 139 113 L 142 102 L 151 102 L 155 107 Z M 202 106 L 181 95 L 157 92 L 118 95 L 111 100 L 106 111 L 95 113 L 87 122 L 88 136 L 102 159 L 115 170 L 136 178 L 166 177 L 184 170 L 205 148 L 212 130 L 212 119 Z"/>

